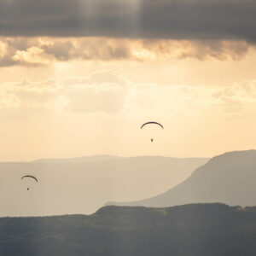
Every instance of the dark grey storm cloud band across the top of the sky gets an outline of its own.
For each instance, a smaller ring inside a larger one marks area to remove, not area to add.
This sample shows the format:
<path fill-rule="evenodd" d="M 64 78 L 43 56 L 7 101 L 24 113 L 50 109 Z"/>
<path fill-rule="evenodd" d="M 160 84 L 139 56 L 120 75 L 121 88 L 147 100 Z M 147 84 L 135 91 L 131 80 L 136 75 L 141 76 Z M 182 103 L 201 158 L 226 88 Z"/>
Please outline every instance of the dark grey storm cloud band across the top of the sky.
<path fill-rule="evenodd" d="M 254 42 L 255 15 L 255 0 L 2 0 L 0 35 Z"/>

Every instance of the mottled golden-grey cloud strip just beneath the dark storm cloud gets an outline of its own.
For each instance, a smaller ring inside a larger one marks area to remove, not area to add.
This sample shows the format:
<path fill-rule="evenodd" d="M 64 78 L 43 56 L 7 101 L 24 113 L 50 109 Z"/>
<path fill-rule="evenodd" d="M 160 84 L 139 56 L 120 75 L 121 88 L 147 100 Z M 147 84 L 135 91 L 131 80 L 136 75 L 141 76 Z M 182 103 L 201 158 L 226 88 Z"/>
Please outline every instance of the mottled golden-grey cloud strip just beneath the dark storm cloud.
<path fill-rule="evenodd" d="M 0 67 L 49 66 L 58 61 L 240 60 L 255 50 L 238 41 L 122 38 L 0 38 Z"/>

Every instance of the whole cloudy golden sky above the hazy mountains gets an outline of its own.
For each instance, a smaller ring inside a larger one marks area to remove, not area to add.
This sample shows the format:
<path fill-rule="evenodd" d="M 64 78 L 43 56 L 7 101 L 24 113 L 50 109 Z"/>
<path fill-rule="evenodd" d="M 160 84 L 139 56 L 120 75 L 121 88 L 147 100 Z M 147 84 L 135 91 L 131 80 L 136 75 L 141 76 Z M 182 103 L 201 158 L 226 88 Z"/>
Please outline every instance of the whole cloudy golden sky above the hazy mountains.
<path fill-rule="evenodd" d="M 1 1 L 0 160 L 256 148 L 255 13 L 253 0 Z"/>

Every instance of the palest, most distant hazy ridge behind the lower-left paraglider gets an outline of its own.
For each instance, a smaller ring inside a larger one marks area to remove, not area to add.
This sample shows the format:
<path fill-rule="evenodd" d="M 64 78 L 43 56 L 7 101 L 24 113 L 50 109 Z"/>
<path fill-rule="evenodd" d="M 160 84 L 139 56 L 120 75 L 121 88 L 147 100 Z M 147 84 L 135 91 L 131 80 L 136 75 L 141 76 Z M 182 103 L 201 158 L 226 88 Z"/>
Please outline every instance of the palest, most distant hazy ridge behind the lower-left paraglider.
<path fill-rule="evenodd" d="M 206 161 L 93 156 L 0 163 L 0 215 L 96 212 L 107 201 L 134 201 L 158 195 L 189 177 Z M 39 182 L 20 181 L 26 174 L 38 177 Z"/>

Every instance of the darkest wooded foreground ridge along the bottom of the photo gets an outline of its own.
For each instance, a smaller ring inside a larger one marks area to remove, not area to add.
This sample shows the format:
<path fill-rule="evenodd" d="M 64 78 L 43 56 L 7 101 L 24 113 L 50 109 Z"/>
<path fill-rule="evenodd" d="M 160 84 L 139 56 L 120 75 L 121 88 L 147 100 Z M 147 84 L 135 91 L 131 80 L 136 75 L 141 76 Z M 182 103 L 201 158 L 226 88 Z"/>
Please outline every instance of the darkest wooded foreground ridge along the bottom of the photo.
<path fill-rule="evenodd" d="M 251 256 L 256 207 L 103 207 L 90 216 L 0 218 L 4 256 Z"/>

